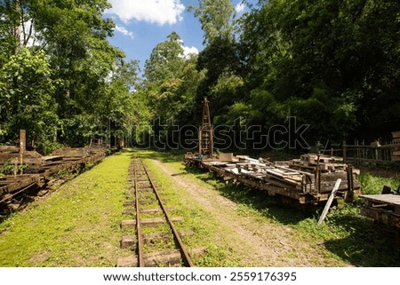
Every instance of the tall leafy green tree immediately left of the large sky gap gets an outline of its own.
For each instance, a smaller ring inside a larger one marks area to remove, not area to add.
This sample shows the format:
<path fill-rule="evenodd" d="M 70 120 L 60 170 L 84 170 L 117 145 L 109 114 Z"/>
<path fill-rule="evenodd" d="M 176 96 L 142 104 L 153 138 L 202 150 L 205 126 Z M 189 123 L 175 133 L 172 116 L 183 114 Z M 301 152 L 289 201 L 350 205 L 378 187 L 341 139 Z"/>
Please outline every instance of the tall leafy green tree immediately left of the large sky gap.
<path fill-rule="evenodd" d="M 83 146 L 107 129 L 108 120 L 97 102 L 107 96 L 106 77 L 123 53 L 107 40 L 114 28 L 111 20 L 102 18 L 107 1 L 48 5 L 49 1 L 36 6 L 33 13 L 52 59 L 53 77 L 58 80 L 59 139 L 70 146 Z"/>

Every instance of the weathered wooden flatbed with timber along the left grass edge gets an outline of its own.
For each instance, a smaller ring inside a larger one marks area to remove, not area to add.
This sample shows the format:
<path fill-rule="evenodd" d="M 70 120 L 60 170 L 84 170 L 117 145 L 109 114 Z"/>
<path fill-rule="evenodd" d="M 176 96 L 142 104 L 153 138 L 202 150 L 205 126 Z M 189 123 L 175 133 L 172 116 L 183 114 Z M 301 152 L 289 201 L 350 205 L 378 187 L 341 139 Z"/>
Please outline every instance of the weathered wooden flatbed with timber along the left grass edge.
<path fill-rule="evenodd" d="M 20 162 L 20 152 L 15 147 L 4 147 L 7 151 L 0 153 L 0 166 L 6 162 Z M 44 186 L 60 170 L 78 170 L 87 163 L 100 162 L 106 156 L 100 147 L 63 148 L 50 156 L 36 152 L 25 152 L 22 156 L 24 174 L 15 171 L 13 175 L 0 177 L 0 202 L 12 198 L 31 186 Z"/>

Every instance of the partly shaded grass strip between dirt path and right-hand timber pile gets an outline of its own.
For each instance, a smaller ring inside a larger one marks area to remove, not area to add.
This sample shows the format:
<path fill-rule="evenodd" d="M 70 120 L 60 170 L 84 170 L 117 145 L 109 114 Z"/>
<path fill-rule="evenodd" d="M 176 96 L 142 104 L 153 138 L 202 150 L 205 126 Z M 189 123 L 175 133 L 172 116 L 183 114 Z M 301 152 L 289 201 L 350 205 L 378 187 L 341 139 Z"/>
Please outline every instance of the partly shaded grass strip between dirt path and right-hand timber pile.
<path fill-rule="evenodd" d="M 293 226 L 303 233 L 311 234 L 315 239 L 322 238 L 325 249 L 352 265 L 400 266 L 399 252 L 394 249 L 396 241 L 381 226 L 373 225 L 370 220 L 360 217 L 357 214 L 357 205 L 349 205 L 352 209 L 350 212 L 332 210 L 325 221 L 327 226 L 318 226 L 317 220 L 324 205 L 300 210 L 276 201 L 264 191 L 232 184 L 224 185 L 212 173 L 196 167 L 186 167 L 186 170 L 214 186 L 222 196 L 232 202 L 246 205 L 263 217 L 282 225 Z"/>

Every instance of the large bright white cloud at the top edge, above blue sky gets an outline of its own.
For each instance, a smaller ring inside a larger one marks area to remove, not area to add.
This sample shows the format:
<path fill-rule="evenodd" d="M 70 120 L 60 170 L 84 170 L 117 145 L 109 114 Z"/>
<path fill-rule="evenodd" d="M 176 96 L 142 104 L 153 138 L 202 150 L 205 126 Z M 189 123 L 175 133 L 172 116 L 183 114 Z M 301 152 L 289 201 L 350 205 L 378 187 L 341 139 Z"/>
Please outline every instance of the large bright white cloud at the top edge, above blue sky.
<path fill-rule="evenodd" d="M 130 20 L 147 21 L 158 25 L 175 24 L 182 20 L 185 5 L 180 0 L 109 0 L 115 14 L 124 23 Z"/>

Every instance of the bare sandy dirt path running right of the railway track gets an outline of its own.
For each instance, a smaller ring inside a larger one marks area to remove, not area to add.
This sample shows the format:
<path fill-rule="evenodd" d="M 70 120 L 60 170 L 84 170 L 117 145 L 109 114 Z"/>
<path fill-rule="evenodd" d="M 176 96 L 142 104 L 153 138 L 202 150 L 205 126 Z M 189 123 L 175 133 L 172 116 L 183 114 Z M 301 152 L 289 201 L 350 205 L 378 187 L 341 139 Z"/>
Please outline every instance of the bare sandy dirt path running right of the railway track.
<path fill-rule="evenodd" d="M 320 244 L 299 241 L 290 226 L 260 223 L 254 217 L 238 215 L 235 202 L 209 187 L 179 175 L 170 165 L 153 160 L 170 175 L 180 191 L 186 191 L 198 204 L 212 213 L 220 224 L 216 243 L 228 244 L 232 255 L 244 266 L 348 266 L 328 253 Z"/>

